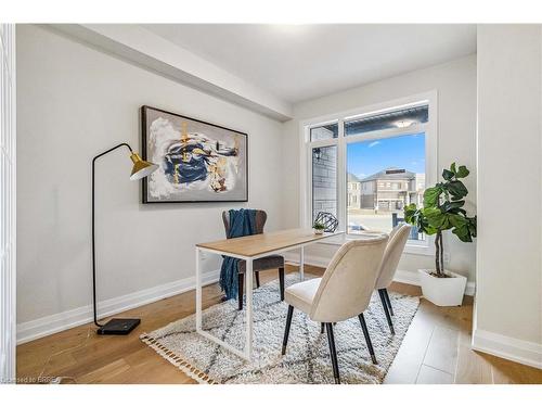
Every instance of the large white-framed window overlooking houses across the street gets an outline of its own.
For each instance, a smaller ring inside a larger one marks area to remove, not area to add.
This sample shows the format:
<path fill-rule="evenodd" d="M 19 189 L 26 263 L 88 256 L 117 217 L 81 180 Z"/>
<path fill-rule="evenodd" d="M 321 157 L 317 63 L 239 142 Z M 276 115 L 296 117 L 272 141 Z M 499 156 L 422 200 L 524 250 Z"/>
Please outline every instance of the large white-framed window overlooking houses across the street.
<path fill-rule="evenodd" d="M 366 229 L 391 231 L 404 221 L 404 206 L 423 204 L 426 183 L 437 179 L 436 93 L 424 97 L 304 124 L 310 157 L 310 164 L 304 161 L 310 176 L 301 208 L 306 225 L 330 212 L 354 239 Z M 408 246 L 430 253 L 428 240 L 413 230 Z"/>

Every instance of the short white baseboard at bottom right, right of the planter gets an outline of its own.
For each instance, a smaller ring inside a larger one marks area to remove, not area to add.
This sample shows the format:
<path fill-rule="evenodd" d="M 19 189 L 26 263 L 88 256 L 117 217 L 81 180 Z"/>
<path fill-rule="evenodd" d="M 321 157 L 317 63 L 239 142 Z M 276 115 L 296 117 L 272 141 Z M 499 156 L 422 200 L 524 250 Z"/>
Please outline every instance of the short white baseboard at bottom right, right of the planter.
<path fill-rule="evenodd" d="M 490 355 L 542 369 L 542 345 L 499 333 L 474 329 L 472 347 Z"/>

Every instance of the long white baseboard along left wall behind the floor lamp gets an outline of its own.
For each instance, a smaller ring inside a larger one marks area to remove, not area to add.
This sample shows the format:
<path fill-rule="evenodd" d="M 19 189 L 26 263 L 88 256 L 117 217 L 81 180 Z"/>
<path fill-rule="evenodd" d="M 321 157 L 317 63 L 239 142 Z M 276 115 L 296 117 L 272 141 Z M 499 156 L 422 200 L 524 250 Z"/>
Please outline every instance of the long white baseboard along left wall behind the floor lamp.
<path fill-rule="evenodd" d="M 218 281 L 220 270 L 205 272 L 202 276 L 204 285 Z M 98 303 L 100 310 L 99 318 L 108 317 L 128 309 L 137 308 L 145 304 L 154 303 L 158 300 L 167 298 L 195 289 L 195 277 L 188 277 L 166 284 L 153 287 L 151 289 L 137 291 L 115 298 L 101 301 Z M 28 322 L 17 323 L 17 344 L 34 341 L 52 333 L 64 331 L 93 320 L 92 305 L 66 310 L 35 319 Z"/>

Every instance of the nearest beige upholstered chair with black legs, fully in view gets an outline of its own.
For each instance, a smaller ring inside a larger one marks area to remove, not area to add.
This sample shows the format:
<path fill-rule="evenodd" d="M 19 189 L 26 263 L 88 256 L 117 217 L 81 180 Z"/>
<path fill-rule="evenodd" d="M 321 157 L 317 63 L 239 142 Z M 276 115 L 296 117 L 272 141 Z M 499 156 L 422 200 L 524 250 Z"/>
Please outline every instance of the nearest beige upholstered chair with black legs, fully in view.
<path fill-rule="evenodd" d="M 358 317 L 369 353 L 376 364 L 363 311 L 371 301 L 387 241 L 386 234 L 349 241 L 333 256 L 322 278 L 298 282 L 286 289 L 284 301 L 288 304 L 288 315 L 282 345 L 283 355 L 286 353 L 295 307 L 313 321 L 325 323 L 335 383 L 340 382 L 340 377 L 333 335 L 334 322 Z"/>

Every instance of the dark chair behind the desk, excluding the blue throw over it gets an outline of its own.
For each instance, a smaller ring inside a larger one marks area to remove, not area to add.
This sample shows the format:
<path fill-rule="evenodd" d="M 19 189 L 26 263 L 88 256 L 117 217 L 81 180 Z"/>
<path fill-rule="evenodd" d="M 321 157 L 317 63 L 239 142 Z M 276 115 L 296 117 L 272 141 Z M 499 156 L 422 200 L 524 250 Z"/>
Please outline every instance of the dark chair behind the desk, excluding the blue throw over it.
<path fill-rule="evenodd" d="M 263 227 L 266 226 L 266 221 L 268 219 L 268 214 L 266 211 L 256 211 L 256 234 L 263 233 Z M 230 216 L 229 212 L 222 212 L 222 221 L 224 222 L 225 237 L 230 236 Z M 228 238 L 229 239 L 229 238 Z M 284 301 L 284 257 L 279 255 L 266 256 L 261 258 L 257 258 L 253 262 L 253 271 L 256 276 L 256 287 L 260 287 L 260 271 L 279 269 L 279 285 L 281 290 L 281 301 Z M 244 276 L 246 271 L 246 262 L 238 262 L 238 293 L 237 293 L 237 302 L 238 302 L 238 310 L 243 309 L 243 283 L 245 281 Z"/>

